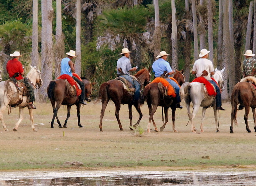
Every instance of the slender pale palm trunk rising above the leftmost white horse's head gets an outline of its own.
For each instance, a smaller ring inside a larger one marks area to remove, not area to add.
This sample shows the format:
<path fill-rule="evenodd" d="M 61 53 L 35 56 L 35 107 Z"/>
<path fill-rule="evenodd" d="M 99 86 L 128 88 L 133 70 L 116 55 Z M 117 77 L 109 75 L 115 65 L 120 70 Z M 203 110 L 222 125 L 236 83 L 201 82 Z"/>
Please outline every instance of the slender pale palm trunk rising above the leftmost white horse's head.
<path fill-rule="evenodd" d="M 33 0 L 33 24 L 32 24 L 32 54 L 31 65 L 38 64 L 38 0 Z"/>

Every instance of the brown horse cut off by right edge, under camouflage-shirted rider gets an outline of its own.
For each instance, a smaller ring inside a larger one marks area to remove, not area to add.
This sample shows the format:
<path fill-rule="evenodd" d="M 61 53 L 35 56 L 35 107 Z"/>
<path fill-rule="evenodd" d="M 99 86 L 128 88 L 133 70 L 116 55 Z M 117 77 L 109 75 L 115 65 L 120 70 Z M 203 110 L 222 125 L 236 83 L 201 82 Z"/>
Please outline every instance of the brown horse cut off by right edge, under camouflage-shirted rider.
<path fill-rule="evenodd" d="M 248 76 L 243 79 L 241 79 L 240 82 L 238 82 L 232 91 L 231 94 L 231 125 L 230 125 L 230 133 L 233 132 L 233 122 L 235 121 L 235 125 L 238 125 L 236 120 L 236 113 L 237 113 L 237 105 L 240 103 L 245 107 L 245 113 L 244 113 L 244 122 L 246 126 L 246 131 L 248 133 L 251 132 L 248 125 L 248 115 L 250 112 L 250 107 L 252 108 L 252 114 L 253 114 L 253 121 L 254 121 L 254 132 L 256 132 L 256 114 L 255 114 L 255 108 L 256 108 L 256 93 L 255 88 L 249 83 L 248 81 L 252 81 L 256 83 L 256 78 L 253 76 Z"/>

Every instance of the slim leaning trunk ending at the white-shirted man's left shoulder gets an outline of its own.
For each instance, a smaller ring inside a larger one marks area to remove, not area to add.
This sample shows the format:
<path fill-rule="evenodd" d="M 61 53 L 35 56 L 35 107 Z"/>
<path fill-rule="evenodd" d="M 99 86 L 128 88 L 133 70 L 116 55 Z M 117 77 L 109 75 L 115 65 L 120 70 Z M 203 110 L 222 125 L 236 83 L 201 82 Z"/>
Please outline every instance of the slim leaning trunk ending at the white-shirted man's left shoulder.
<path fill-rule="evenodd" d="M 191 3 L 192 3 L 192 15 L 193 15 L 193 34 L 194 34 L 194 60 L 197 60 L 199 56 L 198 56 L 198 38 L 197 38 L 195 0 L 191 0 Z"/>

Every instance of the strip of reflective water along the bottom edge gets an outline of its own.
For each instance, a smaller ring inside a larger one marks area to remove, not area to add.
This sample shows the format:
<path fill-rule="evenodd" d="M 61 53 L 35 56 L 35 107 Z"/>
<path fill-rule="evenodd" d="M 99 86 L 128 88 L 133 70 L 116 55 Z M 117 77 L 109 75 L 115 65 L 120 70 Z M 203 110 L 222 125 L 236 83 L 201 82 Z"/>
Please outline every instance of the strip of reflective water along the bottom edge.
<path fill-rule="evenodd" d="M 256 171 L 74 171 L 0 172 L 0 186 L 249 186 Z"/>

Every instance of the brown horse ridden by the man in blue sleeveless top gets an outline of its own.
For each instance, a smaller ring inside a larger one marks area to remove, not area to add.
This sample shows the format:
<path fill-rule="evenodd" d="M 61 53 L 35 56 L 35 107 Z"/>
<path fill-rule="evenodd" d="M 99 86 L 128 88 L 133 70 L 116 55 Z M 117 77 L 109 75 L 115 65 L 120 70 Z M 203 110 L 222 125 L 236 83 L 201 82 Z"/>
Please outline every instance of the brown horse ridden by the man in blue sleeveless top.
<path fill-rule="evenodd" d="M 95 83 L 91 83 L 85 78 L 82 78 L 82 82 L 85 87 L 85 100 L 88 102 L 91 101 L 91 92 L 92 92 L 92 85 Z M 76 113 L 77 113 L 77 120 L 78 120 L 78 126 L 83 127 L 80 124 L 80 107 L 81 104 L 78 101 L 78 97 L 70 97 L 67 93 L 66 83 L 64 79 L 55 79 L 54 81 L 51 81 L 50 84 L 47 87 L 47 94 L 51 101 L 52 107 L 53 107 L 53 119 L 51 122 L 51 128 L 54 124 L 54 119 L 57 119 L 57 122 L 59 124 L 59 128 L 62 128 L 61 122 L 57 116 L 58 110 L 60 109 L 61 105 L 67 106 L 67 117 L 64 122 L 63 127 L 66 128 L 67 120 L 70 117 L 70 109 L 72 105 L 76 105 Z"/>

